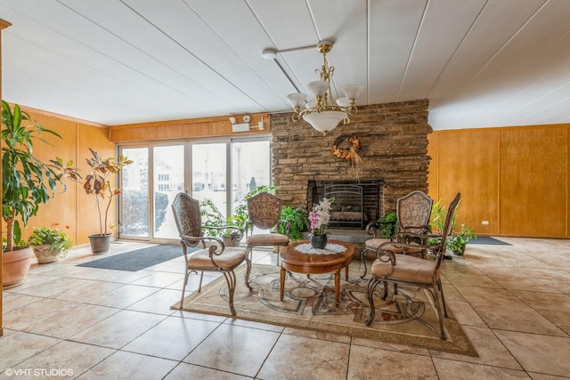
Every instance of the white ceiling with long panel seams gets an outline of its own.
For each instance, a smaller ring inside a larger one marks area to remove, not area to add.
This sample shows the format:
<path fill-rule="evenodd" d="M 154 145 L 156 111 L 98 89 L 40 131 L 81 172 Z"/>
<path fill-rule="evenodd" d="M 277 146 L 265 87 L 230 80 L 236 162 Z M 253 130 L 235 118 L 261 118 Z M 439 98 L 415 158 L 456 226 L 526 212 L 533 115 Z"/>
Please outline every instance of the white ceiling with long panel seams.
<path fill-rule="evenodd" d="M 435 130 L 570 123 L 569 0 L 0 0 L 0 18 L 4 100 L 105 125 L 288 111 L 324 39 L 357 104 L 429 99 Z"/>

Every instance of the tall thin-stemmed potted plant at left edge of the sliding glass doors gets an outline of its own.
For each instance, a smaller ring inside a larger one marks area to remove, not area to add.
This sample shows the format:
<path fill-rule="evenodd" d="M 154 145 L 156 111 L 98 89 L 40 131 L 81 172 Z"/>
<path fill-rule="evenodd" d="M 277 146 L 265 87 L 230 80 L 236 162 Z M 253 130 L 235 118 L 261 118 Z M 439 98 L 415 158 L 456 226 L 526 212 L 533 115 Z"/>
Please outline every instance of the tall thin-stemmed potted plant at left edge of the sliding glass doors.
<path fill-rule="evenodd" d="M 99 215 L 99 233 L 89 235 L 91 251 L 94 254 L 104 254 L 109 252 L 111 230 L 116 228 L 116 224 L 109 220 L 109 210 L 113 198 L 121 194 L 121 190 L 112 187 L 110 176 L 117 175 L 123 167 L 131 165 L 132 160 L 120 155 L 118 158 L 102 158 L 95 150 L 91 151 L 91 158 L 85 158 L 90 172 L 85 175 L 83 188 L 85 193 L 94 197 L 97 214 Z"/>

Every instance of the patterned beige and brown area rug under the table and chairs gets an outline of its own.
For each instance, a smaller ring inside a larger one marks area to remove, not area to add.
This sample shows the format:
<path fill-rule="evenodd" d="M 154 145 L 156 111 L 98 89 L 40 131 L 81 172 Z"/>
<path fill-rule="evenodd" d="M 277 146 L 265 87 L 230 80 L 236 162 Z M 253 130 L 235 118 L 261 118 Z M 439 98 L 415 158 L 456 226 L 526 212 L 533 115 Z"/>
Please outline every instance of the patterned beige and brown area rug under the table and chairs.
<path fill-rule="evenodd" d="M 252 292 L 243 282 L 244 271 L 243 265 L 236 271 L 238 285 L 233 303 L 238 319 L 478 356 L 449 308 L 449 318 L 444 319 L 447 340 L 439 339 L 436 311 L 425 290 L 400 286 L 396 296 L 390 289 L 386 301 L 375 298 L 376 319 L 367 327 L 368 280 L 360 279 L 356 272 L 347 281 L 343 273 L 340 302 L 335 307 L 332 274 L 310 278 L 288 274 L 281 301 L 279 267 L 254 265 L 249 278 Z M 224 277 L 220 277 L 202 287 L 200 293 L 184 298 L 183 310 L 231 317 L 227 290 Z M 179 305 L 175 303 L 171 309 Z"/>

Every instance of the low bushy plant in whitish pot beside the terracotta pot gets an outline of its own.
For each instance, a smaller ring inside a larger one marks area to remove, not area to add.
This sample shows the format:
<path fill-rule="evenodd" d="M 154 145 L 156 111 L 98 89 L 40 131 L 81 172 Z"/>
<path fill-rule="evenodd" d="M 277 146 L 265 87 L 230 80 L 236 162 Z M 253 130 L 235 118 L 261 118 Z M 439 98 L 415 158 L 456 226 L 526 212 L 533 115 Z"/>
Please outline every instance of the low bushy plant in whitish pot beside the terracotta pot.
<path fill-rule="evenodd" d="M 58 227 L 60 223 L 52 223 L 50 227 L 34 227 L 28 238 L 28 244 L 34 250 L 37 263 L 54 263 L 67 254 L 73 245 L 63 230 Z M 65 227 L 69 230 L 69 226 Z"/>

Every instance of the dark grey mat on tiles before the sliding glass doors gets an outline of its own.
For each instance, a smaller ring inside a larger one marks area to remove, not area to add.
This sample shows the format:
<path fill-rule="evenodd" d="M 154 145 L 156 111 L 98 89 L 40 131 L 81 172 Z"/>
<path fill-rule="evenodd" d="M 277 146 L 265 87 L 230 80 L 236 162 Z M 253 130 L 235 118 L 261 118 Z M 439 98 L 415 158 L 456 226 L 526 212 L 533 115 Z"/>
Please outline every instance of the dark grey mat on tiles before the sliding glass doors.
<path fill-rule="evenodd" d="M 124 254 L 113 255 L 77 266 L 111 269 L 114 271 L 140 271 L 159 263 L 182 256 L 182 247 L 170 244 L 141 248 Z"/>

